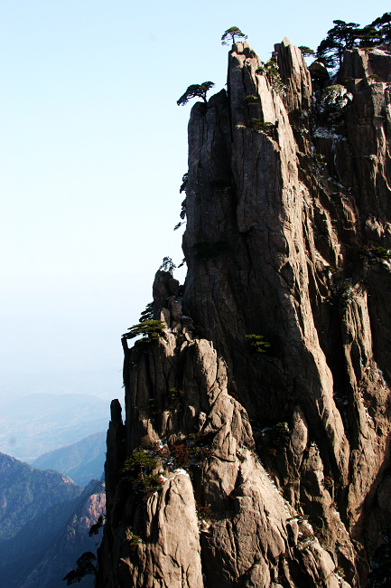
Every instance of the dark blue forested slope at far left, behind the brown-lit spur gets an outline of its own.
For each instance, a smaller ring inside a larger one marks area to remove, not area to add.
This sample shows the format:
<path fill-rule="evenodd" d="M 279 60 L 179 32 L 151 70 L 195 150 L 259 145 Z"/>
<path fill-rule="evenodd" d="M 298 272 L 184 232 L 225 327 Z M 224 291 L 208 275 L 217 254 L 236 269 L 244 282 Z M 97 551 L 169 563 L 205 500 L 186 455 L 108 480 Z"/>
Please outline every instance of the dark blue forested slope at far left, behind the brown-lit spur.
<path fill-rule="evenodd" d="M 39 563 L 81 493 L 60 473 L 0 453 L 0 588 L 17 586 Z"/>

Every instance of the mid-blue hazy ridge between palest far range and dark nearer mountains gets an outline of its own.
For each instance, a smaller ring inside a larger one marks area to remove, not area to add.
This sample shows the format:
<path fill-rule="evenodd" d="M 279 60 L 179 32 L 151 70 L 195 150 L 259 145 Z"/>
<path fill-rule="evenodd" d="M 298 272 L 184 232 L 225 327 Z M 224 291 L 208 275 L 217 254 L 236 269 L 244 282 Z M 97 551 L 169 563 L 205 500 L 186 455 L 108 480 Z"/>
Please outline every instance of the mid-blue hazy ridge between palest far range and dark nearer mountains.
<path fill-rule="evenodd" d="M 34 468 L 55 469 L 79 486 L 86 486 L 91 479 L 101 478 L 105 459 L 106 432 L 97 432 L 67 447 L 44 453 L 32 465 Z"/>

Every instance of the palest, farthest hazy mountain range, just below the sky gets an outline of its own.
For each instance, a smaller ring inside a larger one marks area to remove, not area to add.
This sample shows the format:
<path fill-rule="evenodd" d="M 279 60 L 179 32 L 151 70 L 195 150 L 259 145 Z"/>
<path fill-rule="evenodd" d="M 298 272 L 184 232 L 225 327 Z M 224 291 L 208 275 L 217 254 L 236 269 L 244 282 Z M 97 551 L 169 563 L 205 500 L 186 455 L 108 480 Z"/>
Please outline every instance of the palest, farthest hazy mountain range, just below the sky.
<path fill-rule="evenodd" d="M 88 394 L 31 394 L 2 405 L 0 451 L 32 462 L 107 430 L 109 403 Z M 100 476 L 99 476 L 100 477 Z"/>

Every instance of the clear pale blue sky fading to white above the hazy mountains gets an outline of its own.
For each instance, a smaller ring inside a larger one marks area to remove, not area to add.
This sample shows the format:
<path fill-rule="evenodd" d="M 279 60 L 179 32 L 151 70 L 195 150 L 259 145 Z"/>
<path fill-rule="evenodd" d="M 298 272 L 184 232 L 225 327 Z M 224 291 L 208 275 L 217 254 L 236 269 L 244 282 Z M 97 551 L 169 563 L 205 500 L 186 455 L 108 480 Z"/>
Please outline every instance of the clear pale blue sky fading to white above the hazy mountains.
<path fill-rule="evenodd" d="M 69 392 L 110 395 L 112 373 L 111 395 L 122 394 L 119 337 L 152 299 L 163 256 L 182 261 L 172 228 L 191 107 L 176 100 L 191 83 L 224 87 L 224 30 L 239 26 L 267 60 L 284 36 L 316 49 L 332 20 L 368 24 L 387 10 L 383 0 L 0 2 L 0 398 L 36 392 L 29 374 L 48 374 L 55 392 L 53 375 L 76 371 L 91 372 L 90 389 L 73 379 Z"/>

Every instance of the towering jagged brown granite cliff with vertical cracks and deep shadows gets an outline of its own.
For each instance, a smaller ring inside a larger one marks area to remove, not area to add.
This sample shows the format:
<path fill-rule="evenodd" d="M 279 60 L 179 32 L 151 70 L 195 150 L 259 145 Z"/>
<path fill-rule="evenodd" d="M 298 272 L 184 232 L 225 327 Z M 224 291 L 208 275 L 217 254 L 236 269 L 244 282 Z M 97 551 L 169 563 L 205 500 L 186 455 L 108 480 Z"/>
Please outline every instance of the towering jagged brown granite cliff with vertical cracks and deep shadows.
<path fill-rule="evenodd" d="M 287 39 L 275 58 L 283 93 L 237 43 L 191 110 L 188 274 L 182 297 L 156 274 L 163 336 L 124 340 L 100 586 L 365 586 L 391 516 L 391 56 L 313 91 Z"/>

